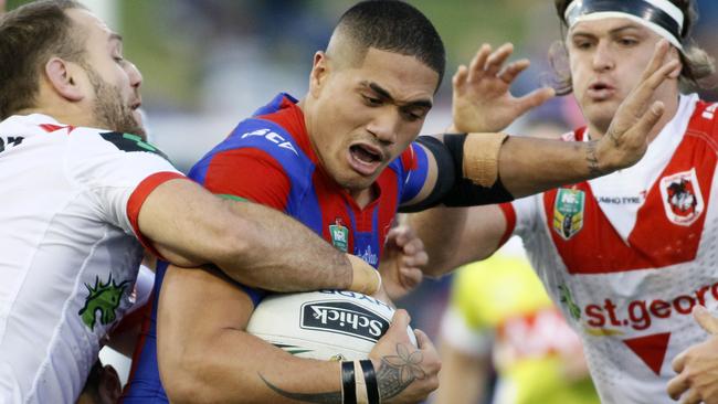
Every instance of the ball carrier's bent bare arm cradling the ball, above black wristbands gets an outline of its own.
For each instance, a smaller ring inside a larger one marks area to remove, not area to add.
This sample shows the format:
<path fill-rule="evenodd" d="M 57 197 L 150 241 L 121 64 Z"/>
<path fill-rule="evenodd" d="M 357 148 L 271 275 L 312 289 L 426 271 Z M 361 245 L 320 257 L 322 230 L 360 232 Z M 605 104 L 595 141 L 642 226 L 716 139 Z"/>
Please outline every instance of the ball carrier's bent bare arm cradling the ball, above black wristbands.
<path fill-rule="evenodd" d="M 158 312 L 158 361 L 172 402 L 288 402 L 262 378 L 292 392 L 341 397 L 339 363 L 300 360 L 250 336 L 253 305 L 222 275 L 167 269 Z M 312 366 L 312 372 L 307 372 Z"/>

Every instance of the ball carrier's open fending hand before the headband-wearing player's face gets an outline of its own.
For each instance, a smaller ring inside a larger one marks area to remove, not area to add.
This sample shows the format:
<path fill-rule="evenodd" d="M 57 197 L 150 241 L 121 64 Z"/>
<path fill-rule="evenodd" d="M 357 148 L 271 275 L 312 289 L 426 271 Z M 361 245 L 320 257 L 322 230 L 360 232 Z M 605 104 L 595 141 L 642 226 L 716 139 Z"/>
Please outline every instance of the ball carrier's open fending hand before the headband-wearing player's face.
<path fill-rule="evenodd" d="M 678 60 L 664 64 L 668 50 L 666 40 L 656 44 L 653 59 L 643 71 L 641 81 L 619 107 L 606 135 L 599 140 L 598 162 L 603 173 L 631 167 L 645 155 L 648 135 L 665 111 L 663 103 L 650 104 L 651 99 L 666 78 L 679 74 Z"/>

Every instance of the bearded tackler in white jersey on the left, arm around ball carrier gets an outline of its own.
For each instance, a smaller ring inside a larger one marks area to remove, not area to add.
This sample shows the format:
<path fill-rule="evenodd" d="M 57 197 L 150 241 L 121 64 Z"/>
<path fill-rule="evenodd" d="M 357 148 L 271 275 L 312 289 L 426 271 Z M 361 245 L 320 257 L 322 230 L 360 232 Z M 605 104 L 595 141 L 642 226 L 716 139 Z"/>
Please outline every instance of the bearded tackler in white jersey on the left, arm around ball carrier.
<path fill-rule="evenodd" d="M 1 17 L 0 66 L 0 402 L 74 402 L 130 305 L 139 242 L 277 291 L 378 288 L 368 264 L 210 194 L 137 136 L 141 75 L 82 4 Z"/>

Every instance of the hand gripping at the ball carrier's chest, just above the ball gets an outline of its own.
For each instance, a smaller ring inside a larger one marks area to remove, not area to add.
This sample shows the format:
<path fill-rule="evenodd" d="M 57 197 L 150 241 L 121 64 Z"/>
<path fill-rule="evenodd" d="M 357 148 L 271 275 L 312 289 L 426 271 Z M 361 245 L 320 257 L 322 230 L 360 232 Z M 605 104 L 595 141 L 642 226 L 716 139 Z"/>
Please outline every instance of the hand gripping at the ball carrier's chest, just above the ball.
<path fill-rule="evenodd" d="M 429 255 L 416 232 L 405 225 L 390 230 L 379 265 L 389 298 L 397 300 L 413 290 L 423 279 L 421 268 L 426 264 Z"/>

